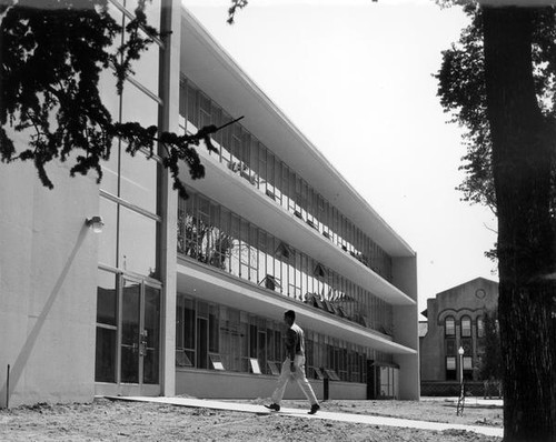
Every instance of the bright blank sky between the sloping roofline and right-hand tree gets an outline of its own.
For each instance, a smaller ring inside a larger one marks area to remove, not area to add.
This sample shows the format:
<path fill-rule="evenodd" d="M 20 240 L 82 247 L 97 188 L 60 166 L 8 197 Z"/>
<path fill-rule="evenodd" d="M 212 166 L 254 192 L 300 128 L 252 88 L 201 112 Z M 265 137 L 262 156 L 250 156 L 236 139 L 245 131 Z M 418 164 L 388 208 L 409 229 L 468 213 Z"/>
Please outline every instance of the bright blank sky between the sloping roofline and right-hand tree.
<path fill-rule="evenodd" d="M 496 219 L 461 201 L 463 130 L 433 77 L 468 19 L 433 0 L 229 0 L 182 3 L 255 83 L 416 251 L 427 298 L 478 277 Z M 421 318 L 424 320 L 424 318 Z"/>

